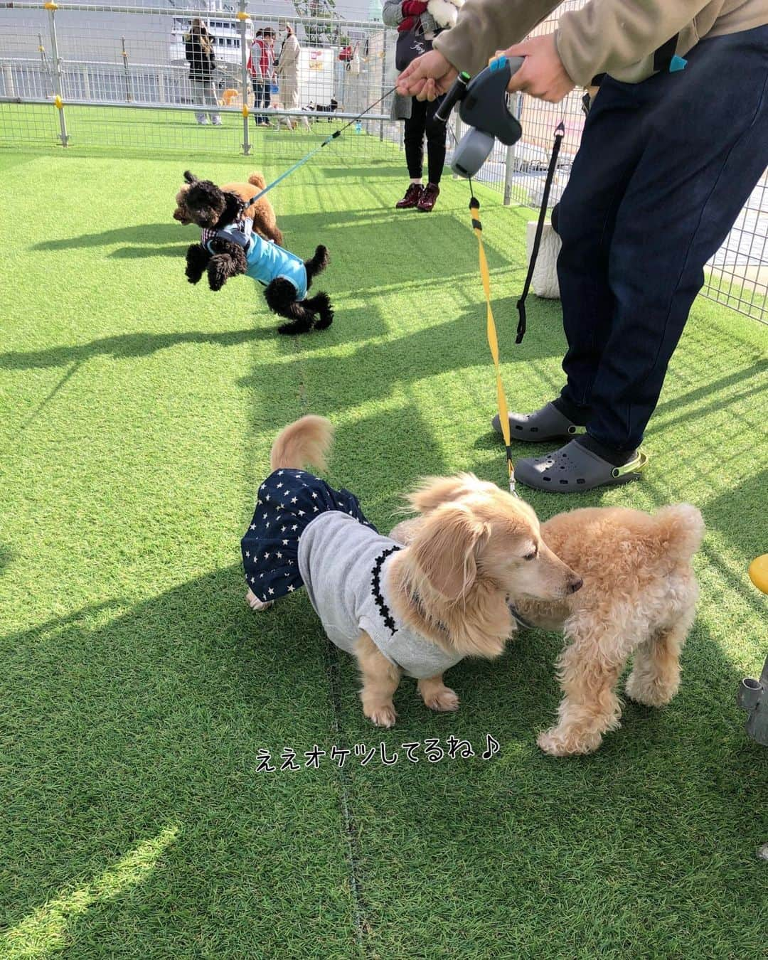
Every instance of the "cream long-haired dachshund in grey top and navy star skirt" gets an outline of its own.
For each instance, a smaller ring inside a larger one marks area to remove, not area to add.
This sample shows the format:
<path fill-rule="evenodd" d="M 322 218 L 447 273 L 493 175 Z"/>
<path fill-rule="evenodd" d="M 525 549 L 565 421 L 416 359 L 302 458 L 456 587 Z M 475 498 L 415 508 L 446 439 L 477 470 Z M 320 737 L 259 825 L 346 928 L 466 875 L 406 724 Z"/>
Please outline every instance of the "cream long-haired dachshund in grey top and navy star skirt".
<path fill-rule="evenodd" d="M 409 500 L 422 515 L 403 546 L 382 537 L 354 495 L 305 471 L 324 469 L 332 426 L 303 417 L 272 447 L 242 540 L 248 601 L 263 610 L 305 587 L 325 633 L 357 660 L 363 712 L 392 727 L 403 674 L 434 710 L 455 710 L 444 671 L 492 659 L 514 631 L 510 593 L 552 604 L 582 581 L 540 537 L 522 500 L 472 474 L 429 478 Z"/>

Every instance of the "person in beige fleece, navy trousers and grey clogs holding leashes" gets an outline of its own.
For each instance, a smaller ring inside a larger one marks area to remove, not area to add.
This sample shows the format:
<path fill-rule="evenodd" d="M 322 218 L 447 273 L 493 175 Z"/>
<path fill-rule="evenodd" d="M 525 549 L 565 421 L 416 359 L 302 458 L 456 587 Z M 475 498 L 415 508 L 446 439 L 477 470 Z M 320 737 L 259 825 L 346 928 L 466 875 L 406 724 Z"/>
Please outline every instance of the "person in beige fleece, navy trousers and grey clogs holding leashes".
<path fill-rule="evenodd" d="M 517 479 L 570 493 L 645 467 L 639 445 L 705 265 L 765 172 L 768 0 L 590 0 L 519 42 L 556 6 L 468 0 L 397 88 L 440 96 L 499 47 L 524 59 L 510 92 L 558 103 L 599 84 L 558 209 L 565 383 L 510 414 L 513 439 L 565 442 L 517 461 Z"/>

